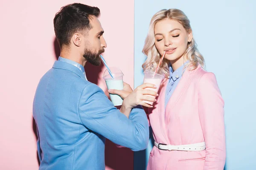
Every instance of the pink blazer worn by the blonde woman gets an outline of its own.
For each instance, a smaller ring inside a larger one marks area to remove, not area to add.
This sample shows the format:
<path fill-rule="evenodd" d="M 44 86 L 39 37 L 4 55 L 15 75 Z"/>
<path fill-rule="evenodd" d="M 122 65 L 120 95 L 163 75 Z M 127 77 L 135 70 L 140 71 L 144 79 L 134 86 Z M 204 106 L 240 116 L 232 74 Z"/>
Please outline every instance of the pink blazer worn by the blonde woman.
<path fill-rule="evenodd" d="M 148 110 L 154 140 L 163 144 L 205 142 L 203 151 L 169 151 L 153 147 L 148 170 L 223 170 L 226 159 L 224 101 L 215 75 L 198 66 L 185 71 L 166 110 L 167 81 Z"/>

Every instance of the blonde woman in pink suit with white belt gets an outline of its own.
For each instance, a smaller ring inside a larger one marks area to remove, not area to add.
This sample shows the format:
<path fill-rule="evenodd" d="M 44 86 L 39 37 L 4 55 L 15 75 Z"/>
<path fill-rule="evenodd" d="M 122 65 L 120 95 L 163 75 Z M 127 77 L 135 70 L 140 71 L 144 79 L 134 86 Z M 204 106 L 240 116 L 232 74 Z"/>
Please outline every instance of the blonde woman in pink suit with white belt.
<path fill-rule="evenodd" d="M 148 108 L 154 147 L 148 170 L 223 170 L 226 158 L 224 101 L 215 75 L 203 69 L 189 19 L 178 9 L 161 10 L 151 19 L 143 69 L 166 79 L 154 108 Z"/>

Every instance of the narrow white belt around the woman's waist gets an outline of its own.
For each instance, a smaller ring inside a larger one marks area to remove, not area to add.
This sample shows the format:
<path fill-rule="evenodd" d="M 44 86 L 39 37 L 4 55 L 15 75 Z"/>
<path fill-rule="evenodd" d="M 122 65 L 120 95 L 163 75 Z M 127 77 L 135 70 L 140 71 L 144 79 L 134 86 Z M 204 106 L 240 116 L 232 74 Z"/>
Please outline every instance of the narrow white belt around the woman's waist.
<path fill-rule="evenodd" d="M 205 142 L 184 145 L 162 144 L 154 142 L 154 145 L 160 150 L 181 150 L 181 151 L 201 151 L 205 150 Z"/>

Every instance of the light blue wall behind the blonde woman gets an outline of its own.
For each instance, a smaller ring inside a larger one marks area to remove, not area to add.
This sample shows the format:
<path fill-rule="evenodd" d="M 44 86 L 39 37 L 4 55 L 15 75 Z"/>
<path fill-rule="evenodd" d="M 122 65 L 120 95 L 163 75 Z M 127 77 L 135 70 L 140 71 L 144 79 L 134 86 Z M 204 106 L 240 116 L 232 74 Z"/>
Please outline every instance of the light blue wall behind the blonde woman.
<path fill-rule="evenodd" d="M 151 17 L 163 8 L 184 11 L 194 39 L 225 101 L 226 170 L 256 167 L 256 1 L 134 0 L 134 87 L 143 82 L 141 65 Z M 134 170 L 144 170 L 152 148 L 134 153 Z"/>

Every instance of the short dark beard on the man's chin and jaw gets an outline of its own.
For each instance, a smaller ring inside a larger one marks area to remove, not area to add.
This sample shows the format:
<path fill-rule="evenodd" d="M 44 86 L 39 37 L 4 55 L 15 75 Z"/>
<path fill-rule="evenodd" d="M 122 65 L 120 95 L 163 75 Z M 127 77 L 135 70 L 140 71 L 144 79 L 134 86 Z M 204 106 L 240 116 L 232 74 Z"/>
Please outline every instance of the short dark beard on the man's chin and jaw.
<path fill-rule="evenodd" d="M 101 59 L 99 57 L 100 54 L 104 53 L 104 48 L 100 49 L 98 53 L 93 53 L 87 48 L 84 49 L 83 57 L 90 62 L 92 65 L 99 66 L 101 64 Z"/>

